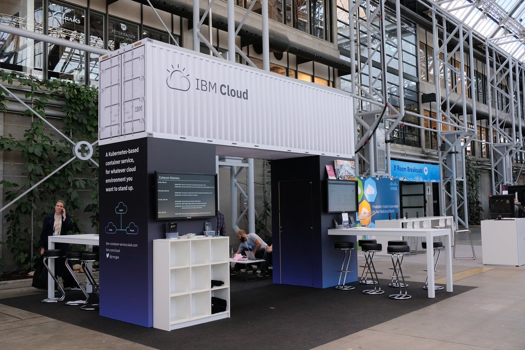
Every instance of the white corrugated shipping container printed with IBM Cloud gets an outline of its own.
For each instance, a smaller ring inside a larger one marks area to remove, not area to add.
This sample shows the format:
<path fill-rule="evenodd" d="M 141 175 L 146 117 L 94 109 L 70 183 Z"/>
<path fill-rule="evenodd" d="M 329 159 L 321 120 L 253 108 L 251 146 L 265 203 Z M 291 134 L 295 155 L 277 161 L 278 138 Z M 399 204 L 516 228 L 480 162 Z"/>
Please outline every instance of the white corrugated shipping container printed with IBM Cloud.
<path fill-rule="evenodd" d="M 100 60 L 100 142 L 127 137 L 354 156 L 352 98 L 144 39 Z"/>

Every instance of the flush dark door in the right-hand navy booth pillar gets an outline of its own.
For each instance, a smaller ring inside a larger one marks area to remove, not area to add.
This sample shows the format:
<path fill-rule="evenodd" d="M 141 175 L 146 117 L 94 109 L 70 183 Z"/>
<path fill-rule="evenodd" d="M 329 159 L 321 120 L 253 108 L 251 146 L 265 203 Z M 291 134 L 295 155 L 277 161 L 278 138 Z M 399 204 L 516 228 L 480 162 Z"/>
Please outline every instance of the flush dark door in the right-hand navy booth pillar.
<path fill-rule="evenodd" d="M 279 182 L 279 239 L 280 283 L 312 287 L 312 259 L 304 259 L 313 257 L 311 181 Z"/>

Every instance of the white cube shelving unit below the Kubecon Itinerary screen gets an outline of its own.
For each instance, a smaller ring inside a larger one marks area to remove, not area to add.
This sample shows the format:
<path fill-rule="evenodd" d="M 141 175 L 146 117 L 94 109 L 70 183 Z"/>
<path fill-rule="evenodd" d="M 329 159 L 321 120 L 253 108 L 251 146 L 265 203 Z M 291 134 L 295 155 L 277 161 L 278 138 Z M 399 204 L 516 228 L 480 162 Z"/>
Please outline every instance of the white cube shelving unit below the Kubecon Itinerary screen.
<path fill-rule="evenodd" d="M 222 236 L 153 240 L 153 327 L 171 331 L 229 317 L 228 249 Z M 212 280 L 224 284 L 211 288 Z M 226 300 L 226 311 L 212 314 L 213 296 Z"/>

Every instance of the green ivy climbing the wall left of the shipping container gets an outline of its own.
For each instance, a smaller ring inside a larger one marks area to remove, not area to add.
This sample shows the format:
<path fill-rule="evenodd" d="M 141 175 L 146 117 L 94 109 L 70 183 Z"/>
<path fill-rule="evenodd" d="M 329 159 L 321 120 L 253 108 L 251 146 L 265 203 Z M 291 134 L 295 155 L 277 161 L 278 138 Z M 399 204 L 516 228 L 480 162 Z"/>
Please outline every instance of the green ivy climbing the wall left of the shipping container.
<path fill-rule="evenodd" d="M 63 110 L 66 116 L 60 121 L 61 132 L 75 143 L 87 141 L 92 144 L 98 140 L 98 89 L 71 81 L 40 80 L 18 72 L 0 71 L 0 80 L 4 82 L 4 86 L 16 86 L 26 91 L 25 97 L 31 99 L 31 108 L 44 118 L 44 110 L 49 101 L 65 101 Z M 7 111 L 7 103 L 7 91 L 0 89 L 0 108 L 4 112 Z M 6 152 L 14 153 L 13 156 L 23 162 L 25 169 L 20 174 L 25 177 L 20 184 L 5 179 L 0 181 L 4 203 L 10 203 L 75 156 L 70 142 L 52 132 L 44 121 L 29 110 L 25 114 L 31 119 L 31 123 L 22 138 L 15 138 L 12 134 L 0 136 L 0 151 L 4 152 L 4 156 Z M 92 159 L 98 163 L 97 147 L 93 147 L 93 150 L 95 153 Z M 81 196 L 81 191 L 88 191 L 89 195 Z M 86 197 L 89 198 L 87 204 Z M 31 267 L 31 249 L 33 255 L 37 256 L 41 219 L 53 209 L 57 199 L 66 201 L 68 213 L 78 209 L 88 213 L 91 227 L 98 227 L 97 166 L 75 158 L 3 211 L 7 223 L 6 240 L 0 241 L 0 244 L 13 254 L 19 269 Z M 31 222 L 35 222 L 36 227 L 31 227 Z M 75 220 L 74 222 L 72 233 L 80 233 L 85 225 Z M 32 247 L 31 236 L 34 239 Z M 0 275 L 3 273 L 3 266 L 5 263 L 0 259 Z"/>

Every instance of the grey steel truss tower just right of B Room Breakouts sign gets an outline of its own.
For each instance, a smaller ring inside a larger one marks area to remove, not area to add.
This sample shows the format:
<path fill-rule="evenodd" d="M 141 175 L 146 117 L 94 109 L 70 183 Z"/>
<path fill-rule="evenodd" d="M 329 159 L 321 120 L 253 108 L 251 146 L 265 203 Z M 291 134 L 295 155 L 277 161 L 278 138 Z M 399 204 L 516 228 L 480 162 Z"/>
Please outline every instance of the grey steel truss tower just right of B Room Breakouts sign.
<path fill-rule="evenodd" d="M 439 183 L 440 214 L 452 215 L 456 227 L 461 224 L 468 228 L 465 150 L 476 137 L 477 118 L 476 104 L 472 103 L 473 126 L 469 127 L 467 91 L 470 96 L 475 96 L 476 90 L 472 78 L 474 67 L 470 64 L 469 71 L 466 71 L 466 58 L 468 62 L 474 61 L 474 37 L 472 29 L 445 13 L 437 5 L 433 5 L 432 8 L 434 70 L 439 70 L 439 73 L 434 75 L 434 84 L 438 161 L 442 176 Z M 474 6 L 472 10 L 475 10 Z M 459 67 L 454 62 L 457 58 Z M 459 113 L 458 108 L 461 109 Z"/>

